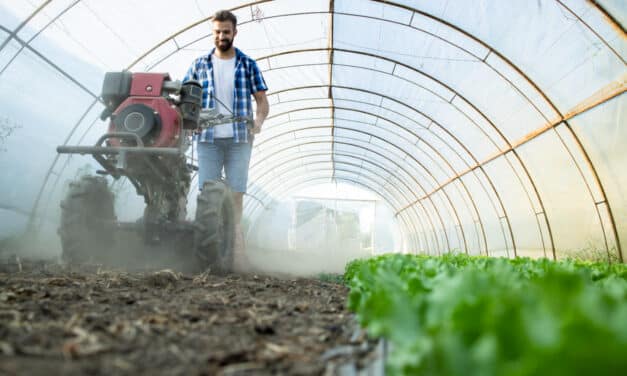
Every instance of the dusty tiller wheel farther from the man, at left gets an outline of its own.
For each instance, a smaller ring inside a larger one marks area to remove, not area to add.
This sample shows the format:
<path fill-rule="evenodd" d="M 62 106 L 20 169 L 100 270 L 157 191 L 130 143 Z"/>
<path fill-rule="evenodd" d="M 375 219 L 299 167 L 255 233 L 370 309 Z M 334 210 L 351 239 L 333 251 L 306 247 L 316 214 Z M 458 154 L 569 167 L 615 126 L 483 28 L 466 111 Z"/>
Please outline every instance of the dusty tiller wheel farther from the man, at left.
<path fill-rule="evenodd" d="M 61 202 L 62 258 L 68 263 L 93 262 L 114 242 L 113 193 L 105 178 L 84 176 L 70 183 Z"/>

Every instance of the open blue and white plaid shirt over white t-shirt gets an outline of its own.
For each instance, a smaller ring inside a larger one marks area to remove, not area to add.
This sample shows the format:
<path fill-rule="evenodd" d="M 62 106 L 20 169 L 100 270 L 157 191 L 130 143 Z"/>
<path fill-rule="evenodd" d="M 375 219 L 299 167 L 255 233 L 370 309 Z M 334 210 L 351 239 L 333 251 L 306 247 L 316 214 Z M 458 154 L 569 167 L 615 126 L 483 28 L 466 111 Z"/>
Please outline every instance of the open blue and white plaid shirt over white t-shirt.
<path fill-rule="evenodd" d="M 213 84 L 213 64 L 211 55 L 215 48 L 208 55 L 203 55 L 192 63 L 183 79 L 183 82 L 196 80 L 202 85 L 202 107 L 215 108 L 215 87 Z M 233 103 L 231 108 L 236 116 L 249 116 L 253 114 L 253 104 L 251 95 L 268 90 L 266 82 L 261 75 L 261 71 L 255 60 L 244 54 L 239 49 L 235 49 L 235 84 L 233 93 Z M 205 129 L 195 139 L 200 142 L 213 142 L 212 127 Z M 246 123 L 233 123 L 233 141 L 248 142 L 248 129 Z"/>

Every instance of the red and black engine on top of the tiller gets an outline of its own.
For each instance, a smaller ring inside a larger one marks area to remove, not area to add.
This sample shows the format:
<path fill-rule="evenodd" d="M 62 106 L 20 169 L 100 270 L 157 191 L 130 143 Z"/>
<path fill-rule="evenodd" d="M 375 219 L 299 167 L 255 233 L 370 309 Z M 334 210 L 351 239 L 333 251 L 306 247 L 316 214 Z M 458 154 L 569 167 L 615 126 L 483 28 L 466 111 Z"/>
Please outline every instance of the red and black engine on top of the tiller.
<path fill-rule="evenodd" d="M 197 127 L 202 92 L 198 83 L 171 81 L 167 73 L 125 71 L 105 75 L 102 98 L 109 133 L 127 136 L 110 138 L 111 146 L 137 144 L 137 136 L 144 146 L 174 147 L 182 129 Z"/>

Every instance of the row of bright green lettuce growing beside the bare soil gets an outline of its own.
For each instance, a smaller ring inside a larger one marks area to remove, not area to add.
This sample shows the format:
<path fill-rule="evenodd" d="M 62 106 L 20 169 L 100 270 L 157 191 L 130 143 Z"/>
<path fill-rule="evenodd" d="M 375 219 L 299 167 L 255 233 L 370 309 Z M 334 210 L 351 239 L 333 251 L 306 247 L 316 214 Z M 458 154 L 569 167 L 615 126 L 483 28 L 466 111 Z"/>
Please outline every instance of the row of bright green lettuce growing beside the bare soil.
<path fill-rule="evenodd" d="M 391 374 L 627 374 L 625 264 L 384 255 L 344 278 Z"/>

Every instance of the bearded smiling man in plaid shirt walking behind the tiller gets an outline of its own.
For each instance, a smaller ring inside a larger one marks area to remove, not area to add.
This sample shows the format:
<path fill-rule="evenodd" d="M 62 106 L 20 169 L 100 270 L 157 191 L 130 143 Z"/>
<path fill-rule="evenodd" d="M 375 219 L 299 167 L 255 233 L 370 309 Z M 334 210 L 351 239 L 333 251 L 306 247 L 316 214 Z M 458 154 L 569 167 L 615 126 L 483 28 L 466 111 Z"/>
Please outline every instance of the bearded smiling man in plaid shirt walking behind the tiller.
<path fill-rule="evenodd" d="M 226 116 L 252 115 L 251 96 L 257 104 L 252 134 L 249 134 L 246 122 L 239 122 L 208 128 L 196 136 L 200 189 L 207 180 L 220 180 L 224 168 L 226 183 L 233 191 L 237 267 L 238 258 L 241 260 L 244 251 L 240 221 L 252 142 L 268 116 L 268 88 L 257 63 L 233 46 L 237 35 L 235 15 L 226 10 L 218 11 L 213 16 L 212 26 L 215 48 L 208 55 L 194 60 L 183 81 L 199 81 L 203 90 L 203 108 L 215 108 Z"/>

